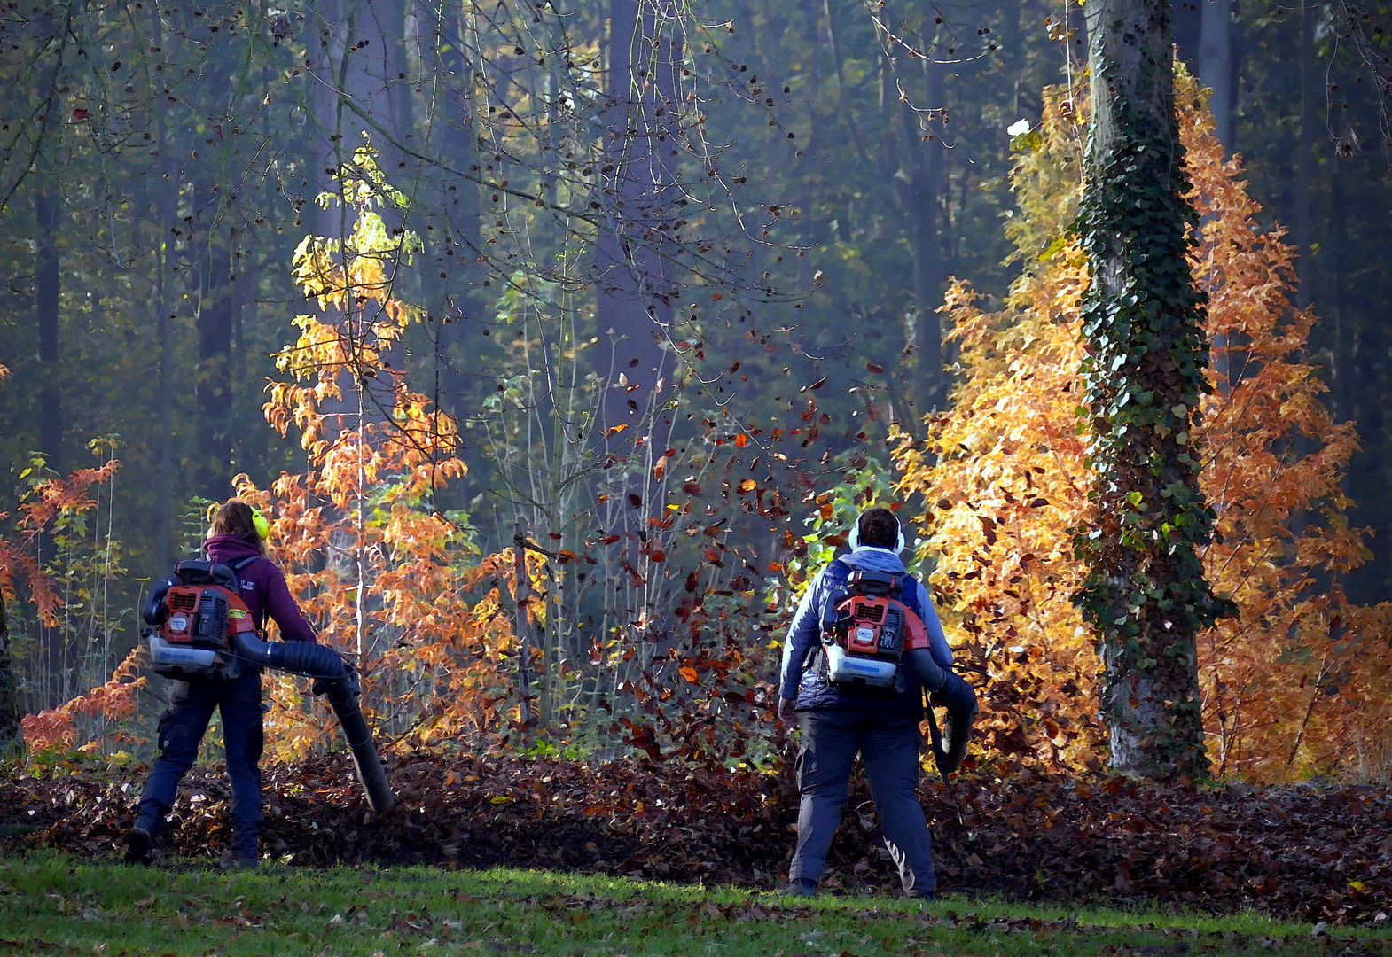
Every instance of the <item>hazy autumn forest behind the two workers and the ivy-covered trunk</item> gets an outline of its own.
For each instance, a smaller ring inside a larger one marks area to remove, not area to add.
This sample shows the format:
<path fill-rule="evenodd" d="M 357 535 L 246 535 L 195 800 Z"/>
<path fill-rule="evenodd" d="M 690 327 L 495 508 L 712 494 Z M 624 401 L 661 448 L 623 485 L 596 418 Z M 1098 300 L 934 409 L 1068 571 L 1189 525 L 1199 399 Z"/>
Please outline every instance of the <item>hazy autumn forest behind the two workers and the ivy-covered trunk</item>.
<path fill-rule="evenodd" d="M 1200 203 L 1229 230 L 1210 249 L 1265 275 L 1267 352 L 1235 352 L 1289 376 L 1229 426 L 1270 480 L 1229 517 L 1271 573 L 1204 650 L 1225 773 L 1392 768 L 1386 21 L 1175 8 L 1214 89 L 1190 140 L 1231 214 Z M 1038 494 L 1058 510 L 1022 531 L 990 477 L 933 474 L 958 427 L 1072 430 L 1027 389 L 990 395 L 1006 426 L 972 403 L 1008 348 L 1073 376 L 1062 293 L 1029 299 L 1069 284 L 1076 7 L 71 3 L 3 25 L 3 584 L 31 743 L 148 754 L 135 608 L 237 491 L 387 740 L 759 762 L 789 597 L 860 506 L 909 494 L 991 679 L 986 754 L 1105 759 L 1069 559 L 1025 541 L 1086 495 Z M 1050 335 L 986 334 L 1041 314 Z M 1051 435 L 1034 465 L 1068 477 Z M 276 682 L 280 757 L 324 747 Z"/>

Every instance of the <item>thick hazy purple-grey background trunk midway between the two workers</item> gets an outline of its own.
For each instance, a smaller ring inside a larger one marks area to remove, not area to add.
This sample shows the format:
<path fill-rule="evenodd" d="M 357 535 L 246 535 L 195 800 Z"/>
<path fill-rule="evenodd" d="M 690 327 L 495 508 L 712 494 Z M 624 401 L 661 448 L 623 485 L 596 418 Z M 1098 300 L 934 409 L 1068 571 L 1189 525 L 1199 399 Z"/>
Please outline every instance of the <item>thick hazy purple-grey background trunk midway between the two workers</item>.
<path fill-rule="evenodd" d="M 672 363 L 670 334 L 675 284 L 668 256 L 672 177 L 664 161 L 677 127 L 675 64 L 681 49 L 657 31 L 656 4 L 668 0 L 610 0 L 608 75 L 600 110 L 603 163 L 599 235 L 594 242 L 596 320 L 600 345 L 596 376 L 603 387 L 596 447 L 618 462 L 617 494 L 603 522 L 624 536 L 612 574 L 624 581 L 606 606 L 608 620 L 642 622 L 632 629 L 640 654 L 628 664 L 647 668 L 667 634 L 665 579 L 644 574 L 649 519 L 660 515 L 663 480 L 650 478 L 672 433 L 663 408 Z M 604 348 L 607 345 L 607 348 Z M 624 431 L 629 430 L 629 431 Z M 646 444 L 635 441 L 646 434 Z M 612 616 L 612 618 L 611 618 Z M 618 672 L 615 672 L 617 675 Z"/>

